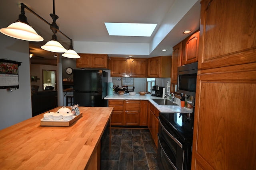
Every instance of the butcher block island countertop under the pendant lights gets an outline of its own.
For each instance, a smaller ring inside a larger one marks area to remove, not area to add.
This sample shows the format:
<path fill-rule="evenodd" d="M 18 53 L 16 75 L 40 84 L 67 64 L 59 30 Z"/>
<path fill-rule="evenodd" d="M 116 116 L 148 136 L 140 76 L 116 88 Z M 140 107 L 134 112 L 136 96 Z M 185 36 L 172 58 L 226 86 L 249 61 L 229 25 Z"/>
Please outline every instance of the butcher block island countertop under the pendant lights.
<path fill-rule="evenodd" d="M 56 112 L 61 107 L 50 111 Z M 0 131 L 0 169 L 82 170 L 94 159 L 113 107 L 80 107 L 68 127 L 41 126 L 43 114 Z M 19 114 L 19 113 L 17 113 Z M 6 120 L 7 121 L 7 120 Z"/>

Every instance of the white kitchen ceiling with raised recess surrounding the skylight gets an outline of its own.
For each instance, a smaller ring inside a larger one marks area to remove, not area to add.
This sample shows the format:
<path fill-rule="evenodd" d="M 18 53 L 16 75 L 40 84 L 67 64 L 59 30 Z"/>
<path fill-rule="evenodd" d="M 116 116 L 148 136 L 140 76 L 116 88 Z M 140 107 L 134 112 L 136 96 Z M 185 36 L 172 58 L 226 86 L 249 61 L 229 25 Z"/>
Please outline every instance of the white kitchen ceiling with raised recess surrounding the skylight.
<path fill-rule="evenodd" d="M 24 3 L 49 23 L 53 13 L 52 0 L 5 0 L 0 6 L 0 18 L 8 23 L 18 19 Z M 101 53 L 112 57 L 149 58 L 172 55 L 172 47 L 196 31 L 200 24 L 200 0 L 55 0 L 55 14 L 60 31 L 74 41 L 77 53 Z M 56 59 L 54 54 L 40 49 L 52 37 L 50 26 L 25 9 L 28 23 L 44 38 L 30 42 L 34 59 Z M 151 37 L 109 36 L 104 22 L 157 23 Z M 6 27 L 8 26 L 6 25 Z M 68 49 L 69 39 L 57 33 L 58 41 Z M 162 52 L 162 49 L 167 49 Z"/>

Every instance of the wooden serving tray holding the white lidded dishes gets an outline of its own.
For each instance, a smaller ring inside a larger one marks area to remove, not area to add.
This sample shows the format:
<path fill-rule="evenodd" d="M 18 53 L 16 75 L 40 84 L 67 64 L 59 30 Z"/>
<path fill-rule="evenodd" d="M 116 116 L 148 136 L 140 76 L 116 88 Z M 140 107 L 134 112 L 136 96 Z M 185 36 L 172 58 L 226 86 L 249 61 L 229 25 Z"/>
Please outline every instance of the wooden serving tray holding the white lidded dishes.
<path fill-rule="evenodd" d="M 44 118 L 41 119 L 41 126 L 70 126 L 72 125 L 72 123 L 74 123 L 77 119 L 79 119 L 81 116 L 83 115 L 83 113 L 80 113 L 77 116 L 73 116 L 72 119 L 70 120 L 54 120 L 54 119 L 50 119 L 50 120 L 44 120 Z"/>

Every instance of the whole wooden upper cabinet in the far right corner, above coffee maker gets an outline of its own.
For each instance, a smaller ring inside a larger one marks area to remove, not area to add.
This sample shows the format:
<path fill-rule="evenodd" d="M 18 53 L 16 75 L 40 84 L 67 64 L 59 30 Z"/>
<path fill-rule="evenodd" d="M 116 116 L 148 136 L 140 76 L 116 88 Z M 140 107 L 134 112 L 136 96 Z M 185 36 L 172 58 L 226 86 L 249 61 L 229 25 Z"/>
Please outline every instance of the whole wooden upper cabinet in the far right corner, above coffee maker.
<path fill-rule="evenodd" d="M 148 77 L 170 78 L 172 56 L 160 56 L 148 59 Z"/>

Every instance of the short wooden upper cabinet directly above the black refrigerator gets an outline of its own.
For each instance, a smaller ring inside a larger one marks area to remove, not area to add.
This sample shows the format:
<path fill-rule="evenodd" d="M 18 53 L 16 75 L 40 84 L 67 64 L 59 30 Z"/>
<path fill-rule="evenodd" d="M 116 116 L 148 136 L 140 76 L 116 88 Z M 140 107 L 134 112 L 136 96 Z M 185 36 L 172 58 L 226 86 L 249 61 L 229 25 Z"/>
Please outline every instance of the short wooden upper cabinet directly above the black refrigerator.
<path fill-rule="evenodd" d="M 76 59 L 77 68 L 107 68 L 106 54 L 78 54 L 81 58 Z"/>

